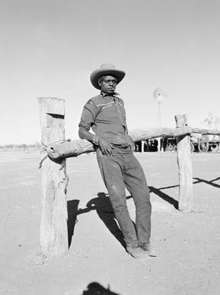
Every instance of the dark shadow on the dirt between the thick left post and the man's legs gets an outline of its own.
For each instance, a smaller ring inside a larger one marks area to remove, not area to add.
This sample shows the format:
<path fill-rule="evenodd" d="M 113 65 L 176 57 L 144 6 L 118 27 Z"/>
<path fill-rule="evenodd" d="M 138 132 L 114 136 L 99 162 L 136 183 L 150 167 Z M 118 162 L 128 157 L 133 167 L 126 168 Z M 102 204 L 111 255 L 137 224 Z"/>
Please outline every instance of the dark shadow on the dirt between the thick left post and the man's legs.
<path fill-rule="evenodd" d="M 127 199 L 129 199 L 129 197 Z M 100 219 L 104 222 L 110 233 L 114 237 L 116 237 L 116 239 L 118 239 L 118 242 L 120 242 L 120 244 L 122 244 L 122 246 L 126 249 L 125 240 L 116 222 L 116 217 L 109 201 L 109 196 L 104 192 L 99 192 L 98 197 L 91 199 L 86 204 L 86 208 L 84 209 L 78 209 L 79 202 L 79 200 L 72 200 L 67 202 L 68 246 L 71 246 L 75 223 L 77 221 L 77 215 L 90 212 L 91 210 L 96 210 L 98 217 L 100 217 Z"/>

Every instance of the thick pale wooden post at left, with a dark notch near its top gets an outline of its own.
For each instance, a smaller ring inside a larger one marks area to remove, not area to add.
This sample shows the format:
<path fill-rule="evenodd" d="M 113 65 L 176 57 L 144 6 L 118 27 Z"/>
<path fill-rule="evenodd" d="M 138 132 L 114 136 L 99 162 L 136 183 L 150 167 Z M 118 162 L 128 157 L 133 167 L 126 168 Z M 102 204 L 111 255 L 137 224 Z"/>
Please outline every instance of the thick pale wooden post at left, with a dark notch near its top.
<path fill-rule="evenodd" d="M 65 140 L 63 99 L 38 99 L 42 144 L 46 147 Z M 40 244 L 46 257 L 68 251 L 66 205 L 66 159 L 46 158 L 42 164 L 42 219 Z"/>

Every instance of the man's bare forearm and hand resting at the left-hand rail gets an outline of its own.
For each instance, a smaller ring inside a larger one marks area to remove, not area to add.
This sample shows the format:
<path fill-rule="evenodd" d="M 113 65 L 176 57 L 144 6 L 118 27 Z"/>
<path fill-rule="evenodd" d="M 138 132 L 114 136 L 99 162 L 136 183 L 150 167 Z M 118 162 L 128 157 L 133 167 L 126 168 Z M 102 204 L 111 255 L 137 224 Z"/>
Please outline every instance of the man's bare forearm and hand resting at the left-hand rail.
<path fill-rule="evenodd" d="M 107 155 L 107 157 L 109 157 L 109 155 L 113 155 L 113 145 L 110 144 L 107 140 L 104 140 L 104 138 L 93 135 L 84 127 L 80 127 L 78 133 L 81 140 L 88 140 L 89 142 L 100 146 L 103 155 Z"/>

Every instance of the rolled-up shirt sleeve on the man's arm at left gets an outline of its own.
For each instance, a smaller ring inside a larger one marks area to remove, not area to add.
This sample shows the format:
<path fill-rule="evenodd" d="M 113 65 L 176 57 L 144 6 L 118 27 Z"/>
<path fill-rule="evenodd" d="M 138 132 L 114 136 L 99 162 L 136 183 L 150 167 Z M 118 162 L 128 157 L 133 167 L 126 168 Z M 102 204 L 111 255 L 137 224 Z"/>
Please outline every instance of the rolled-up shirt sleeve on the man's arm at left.
<path fill-rule="evenodd" d="M 79 127 L 84 127 L 87 130 L 90 129 L 91 126 L 93 126 L 95 122 L 95 117 L 98 113 L 98 108 L 95 106 L 93 101 L 89 100 L 84 105 L 84 108 L 82 110 L 82 115 L 79 123 Z"/>

